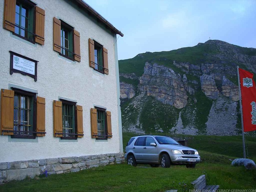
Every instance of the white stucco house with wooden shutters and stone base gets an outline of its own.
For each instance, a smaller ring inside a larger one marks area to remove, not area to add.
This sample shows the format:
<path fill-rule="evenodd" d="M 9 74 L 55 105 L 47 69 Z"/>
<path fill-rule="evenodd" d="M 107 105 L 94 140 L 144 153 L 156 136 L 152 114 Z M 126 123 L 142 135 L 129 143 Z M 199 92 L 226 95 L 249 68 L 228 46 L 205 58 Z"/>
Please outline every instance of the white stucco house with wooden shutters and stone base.
<path fill-rule="evenodd" d="M 0 0 L 0 21 L 0 182 L 122 162 L 123 34 L 82 0 Z"/>

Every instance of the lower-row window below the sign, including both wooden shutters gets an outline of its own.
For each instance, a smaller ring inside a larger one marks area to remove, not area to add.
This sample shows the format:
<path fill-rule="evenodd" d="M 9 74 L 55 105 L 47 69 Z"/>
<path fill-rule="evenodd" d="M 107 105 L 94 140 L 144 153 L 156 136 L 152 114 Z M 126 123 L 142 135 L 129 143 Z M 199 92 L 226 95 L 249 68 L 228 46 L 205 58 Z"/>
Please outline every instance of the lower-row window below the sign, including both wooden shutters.
<path fill-rule="evenodd" d="M 34 139 L 45 136 L 45 98 L 13 88 L 1 89 L 1 134 Z"/>

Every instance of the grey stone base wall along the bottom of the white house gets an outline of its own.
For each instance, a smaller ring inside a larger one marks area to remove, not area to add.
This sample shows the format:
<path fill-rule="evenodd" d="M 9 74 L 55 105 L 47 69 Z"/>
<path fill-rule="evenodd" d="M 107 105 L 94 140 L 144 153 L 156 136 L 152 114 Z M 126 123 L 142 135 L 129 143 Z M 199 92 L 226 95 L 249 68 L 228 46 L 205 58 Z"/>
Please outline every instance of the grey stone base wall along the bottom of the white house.
<path fill-rule="evenodd" d="M 0 184 L 11 180 L 22 180 L 27 176 L 34 178 L 46 172 L 48 175 L 78 172 L 100 165 L 120 164 L 123 162 L 124 154 L 116 153 L 0 163 Z"/>

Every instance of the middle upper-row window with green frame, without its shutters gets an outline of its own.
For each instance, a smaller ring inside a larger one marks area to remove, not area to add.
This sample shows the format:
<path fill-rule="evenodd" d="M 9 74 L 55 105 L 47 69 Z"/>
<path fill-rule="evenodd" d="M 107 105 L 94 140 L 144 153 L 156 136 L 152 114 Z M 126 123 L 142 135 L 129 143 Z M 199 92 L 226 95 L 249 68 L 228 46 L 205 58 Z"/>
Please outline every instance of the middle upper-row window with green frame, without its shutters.
<path fill-rule="evenodd" d="M 74 60 L 73 28 L 63 21 L 61 21 L 61 28 L 60 28 L 60 45 L 61 45 L 60 55 Z"/>

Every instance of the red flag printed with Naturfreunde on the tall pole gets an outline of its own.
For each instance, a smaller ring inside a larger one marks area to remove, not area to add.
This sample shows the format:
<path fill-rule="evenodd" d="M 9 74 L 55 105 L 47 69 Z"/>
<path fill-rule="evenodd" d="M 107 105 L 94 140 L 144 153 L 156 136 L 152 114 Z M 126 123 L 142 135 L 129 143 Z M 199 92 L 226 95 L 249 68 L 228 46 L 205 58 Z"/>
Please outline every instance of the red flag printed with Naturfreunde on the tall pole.
<path fill-rule="evenodd" d="M 239 68 L 244 132 L 256 130 L 256 88 L 253 74 Z"/>

